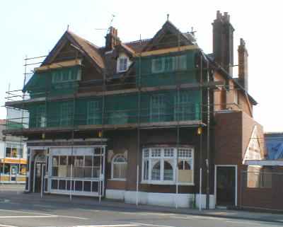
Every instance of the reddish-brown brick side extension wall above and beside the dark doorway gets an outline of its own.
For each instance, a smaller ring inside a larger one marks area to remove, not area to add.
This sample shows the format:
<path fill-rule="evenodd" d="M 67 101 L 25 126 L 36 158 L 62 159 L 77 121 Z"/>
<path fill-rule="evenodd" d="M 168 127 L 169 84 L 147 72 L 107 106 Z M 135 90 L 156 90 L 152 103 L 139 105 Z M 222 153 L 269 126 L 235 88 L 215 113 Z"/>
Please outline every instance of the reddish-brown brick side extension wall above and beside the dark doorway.
<path fill-rule="evenodd" d="M 241 194 L 241 172 L 246 170 L 243 156 L 248 147 L 250 136 L 255 125 L 258 127 L 258 137 L 262 153 L 265 152 L 263 129 L 258 122 L 246 112 L 221 112 L 215 115 L 215 165 L 238 166 L 238 204 Z"/>

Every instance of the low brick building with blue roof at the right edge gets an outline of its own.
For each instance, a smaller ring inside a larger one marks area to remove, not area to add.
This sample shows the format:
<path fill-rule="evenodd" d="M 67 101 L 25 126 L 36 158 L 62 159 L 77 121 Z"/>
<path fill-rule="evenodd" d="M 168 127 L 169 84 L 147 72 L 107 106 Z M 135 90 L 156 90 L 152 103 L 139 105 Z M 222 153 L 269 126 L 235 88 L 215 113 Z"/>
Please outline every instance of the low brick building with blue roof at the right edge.
<path fill-rule="evenodd" d="M 241 206 L 283 211 L 283 133 L 266 132 L 264 139 L 265 156 L 244 161 L 248 169 L 243 172 Z"/>

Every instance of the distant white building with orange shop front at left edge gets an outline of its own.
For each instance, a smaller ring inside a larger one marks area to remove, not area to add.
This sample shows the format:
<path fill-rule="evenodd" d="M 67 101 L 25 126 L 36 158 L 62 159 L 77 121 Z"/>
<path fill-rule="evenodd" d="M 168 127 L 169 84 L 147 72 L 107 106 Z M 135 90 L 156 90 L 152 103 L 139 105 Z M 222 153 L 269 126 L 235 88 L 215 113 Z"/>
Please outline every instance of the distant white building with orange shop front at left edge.
<path fill-rule="evenodd" d="M 2 134 L 6 120 L 0 120 L 0 183 L 25 183 L 26 143 L 22 137 Z"/>

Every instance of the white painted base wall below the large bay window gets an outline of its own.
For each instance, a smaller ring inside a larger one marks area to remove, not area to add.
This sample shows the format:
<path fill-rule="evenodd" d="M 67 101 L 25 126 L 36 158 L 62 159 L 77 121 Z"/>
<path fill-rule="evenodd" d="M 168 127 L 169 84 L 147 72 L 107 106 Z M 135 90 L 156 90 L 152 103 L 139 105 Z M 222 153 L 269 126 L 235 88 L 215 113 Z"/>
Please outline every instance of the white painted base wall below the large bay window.
<path fill-rule="evenodd" d="M 126 203 L 135 204 L 137 199 L 137 192 L 125 190 L 106 190 L 105 197 L 108 199 L 120 199 Z M 190 207 L 192 208 L 194 200 L 196 205 L 199 204 L 198 194 L 175 194 L 175 193 L 155 193 L 155 192 L 138 192 L 139 204 L 149 204 L 157 206 L 172 206 L 175 207 Z M 209 208 L 215 208 L 214 195 L 210 195 Z M 206 196 L 202 194 L 202 208 L 206 207 Z"/>

